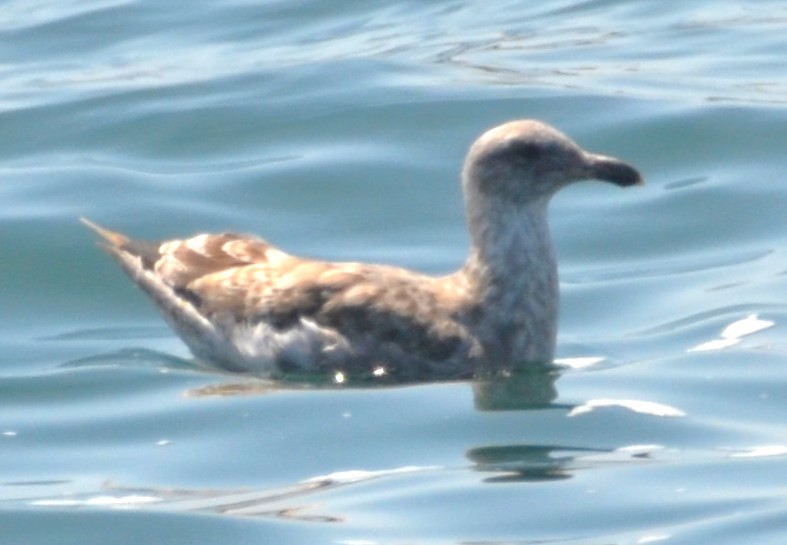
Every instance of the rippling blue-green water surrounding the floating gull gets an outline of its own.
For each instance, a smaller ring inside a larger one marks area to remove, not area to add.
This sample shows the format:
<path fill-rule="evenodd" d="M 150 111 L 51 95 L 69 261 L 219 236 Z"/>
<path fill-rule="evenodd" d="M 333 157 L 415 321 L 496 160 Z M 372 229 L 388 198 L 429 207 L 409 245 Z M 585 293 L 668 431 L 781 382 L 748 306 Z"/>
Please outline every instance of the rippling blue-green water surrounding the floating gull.
<path fill-rule="evenodd" d="M 785 24 L 783 1 L 3 3 L 3 543 L 782 544 Z M 76 221 L 442 273 L 465 150 L 520 117 L 648 185 L 553 203 L 570 366 L 513 392 L 199 368 Z"/>

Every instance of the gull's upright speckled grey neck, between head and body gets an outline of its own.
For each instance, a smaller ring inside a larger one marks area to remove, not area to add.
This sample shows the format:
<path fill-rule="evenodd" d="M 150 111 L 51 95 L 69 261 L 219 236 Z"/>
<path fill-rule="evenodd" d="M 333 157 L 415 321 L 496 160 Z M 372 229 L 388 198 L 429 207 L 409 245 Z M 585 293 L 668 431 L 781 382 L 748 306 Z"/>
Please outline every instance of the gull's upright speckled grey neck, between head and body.
<path fill-rule="evenodd" d="M 472 246 L 460 273 L 472 301 L 467 323 L 493 366 L 554 358 L 559 292 L 548 201 L 468 203 Z"/>

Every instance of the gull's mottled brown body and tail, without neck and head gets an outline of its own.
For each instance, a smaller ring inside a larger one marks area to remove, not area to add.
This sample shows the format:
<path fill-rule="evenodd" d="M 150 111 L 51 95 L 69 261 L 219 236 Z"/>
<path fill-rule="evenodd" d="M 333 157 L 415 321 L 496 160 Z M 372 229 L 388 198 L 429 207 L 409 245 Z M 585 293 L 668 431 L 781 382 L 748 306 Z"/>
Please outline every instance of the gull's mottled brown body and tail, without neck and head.
<path fill-rule="evenodd" d="M 269 374 L 472 375 L 456 277 L 301 259 L 236 234 L 139 242 L 85 223 L 201 359 Z"/>

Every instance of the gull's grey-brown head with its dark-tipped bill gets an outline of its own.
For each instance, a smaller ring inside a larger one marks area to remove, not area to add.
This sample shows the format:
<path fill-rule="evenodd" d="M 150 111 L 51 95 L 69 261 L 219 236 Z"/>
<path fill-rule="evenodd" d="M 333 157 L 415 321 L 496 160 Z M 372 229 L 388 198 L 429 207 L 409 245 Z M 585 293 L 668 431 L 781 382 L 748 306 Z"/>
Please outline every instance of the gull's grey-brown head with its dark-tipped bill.
<path fill-rule="evenodd" d="M 587 152 L 553 127 L 529 119 L 482 134 L 470 147 L 462 175 L 469 197 L 514 205 L 546 201 L 580 180 L 603 180 L 621 187 L 642 183 L 634 167 Z"/>

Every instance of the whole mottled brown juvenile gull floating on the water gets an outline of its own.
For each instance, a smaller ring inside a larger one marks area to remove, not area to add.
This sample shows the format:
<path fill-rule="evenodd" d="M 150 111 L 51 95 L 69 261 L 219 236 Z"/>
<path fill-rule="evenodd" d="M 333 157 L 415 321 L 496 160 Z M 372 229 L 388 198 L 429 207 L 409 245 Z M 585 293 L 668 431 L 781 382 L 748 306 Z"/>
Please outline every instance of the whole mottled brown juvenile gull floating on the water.
<path fill-rule="evenodd" d="M 462 171 L 469 256 L 432 277 L 296 257 L 259 238 L 103 239 L 194 355 L 224 368 L 454 379 L 552 362 L 558 278 L 550 198 L 579 180 L 642 183 L 631 166 L 534 120 L 481 135 Z"/>

